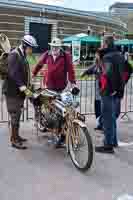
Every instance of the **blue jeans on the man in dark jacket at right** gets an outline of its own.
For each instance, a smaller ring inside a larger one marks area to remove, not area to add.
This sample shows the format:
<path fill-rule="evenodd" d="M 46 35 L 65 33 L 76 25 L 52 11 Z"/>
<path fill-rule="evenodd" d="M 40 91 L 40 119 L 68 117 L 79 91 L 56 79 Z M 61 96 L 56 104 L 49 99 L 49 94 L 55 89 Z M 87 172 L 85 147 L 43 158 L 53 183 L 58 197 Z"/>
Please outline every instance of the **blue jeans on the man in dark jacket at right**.
<path fill-rule="evenodd" d="M 104 144 L 117 145 L 117 118 L 120 115 L 120 98 L 116 96 L 103 96 L 102 101 L 102 117 L 104 126 Z"/>

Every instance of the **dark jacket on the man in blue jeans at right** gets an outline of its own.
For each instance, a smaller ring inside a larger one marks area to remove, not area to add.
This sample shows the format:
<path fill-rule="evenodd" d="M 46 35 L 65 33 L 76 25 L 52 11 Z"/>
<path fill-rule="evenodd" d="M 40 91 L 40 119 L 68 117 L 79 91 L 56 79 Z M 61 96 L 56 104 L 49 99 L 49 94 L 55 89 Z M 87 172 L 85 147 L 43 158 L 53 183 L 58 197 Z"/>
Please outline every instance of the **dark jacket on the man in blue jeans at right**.
<path fill-rule="evenodd" d="M 110 96 L 114 93 L 123 97 L 121 70 L 125 63 L 124 57 L 114 49 L 102 49 L 100 51 L 102 73 L 100 76 L 100 90 L 102 96 Z"/>

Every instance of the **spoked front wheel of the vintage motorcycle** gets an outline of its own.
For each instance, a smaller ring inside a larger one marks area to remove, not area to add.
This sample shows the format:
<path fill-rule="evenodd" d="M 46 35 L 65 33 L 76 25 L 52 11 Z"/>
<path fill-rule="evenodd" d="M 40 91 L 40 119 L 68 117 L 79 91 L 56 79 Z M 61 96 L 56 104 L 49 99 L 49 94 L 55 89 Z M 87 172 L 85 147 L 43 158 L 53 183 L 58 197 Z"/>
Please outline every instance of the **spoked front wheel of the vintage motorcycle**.
<path fill-rule="evenodd" d="M 74 133 L 69 135 L 69 153 L 75 167 L 85 172 L 93 161 L 92 139 L 86 127 L 74 125 Z"/>

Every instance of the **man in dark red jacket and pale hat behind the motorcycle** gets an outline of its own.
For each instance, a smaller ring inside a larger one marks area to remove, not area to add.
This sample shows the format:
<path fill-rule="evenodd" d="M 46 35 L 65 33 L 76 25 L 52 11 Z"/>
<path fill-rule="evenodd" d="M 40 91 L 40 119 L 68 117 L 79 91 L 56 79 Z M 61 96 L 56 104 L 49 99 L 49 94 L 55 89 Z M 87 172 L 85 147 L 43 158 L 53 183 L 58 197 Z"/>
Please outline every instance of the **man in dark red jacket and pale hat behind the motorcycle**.
<path fill-rule="evenodd" d="M 63 51 L 62 43 L 59 38 L 54 38 L 49 45 L 51 49 L 41 56 L 33 71 L 33 77 L 35 77 L 43 65 L 46 64 L 47 71 L 44 75 L 44 84 L 46 88 L 56 92 L 62 92 L 67 87 L 68 81 L 71 84 L 70 87 L 74 87 L 76 84 L 75 70 L 71 55 Z M 61 135 L 57 147 L 63 144 L 64 139 L 63 135 Z"/>

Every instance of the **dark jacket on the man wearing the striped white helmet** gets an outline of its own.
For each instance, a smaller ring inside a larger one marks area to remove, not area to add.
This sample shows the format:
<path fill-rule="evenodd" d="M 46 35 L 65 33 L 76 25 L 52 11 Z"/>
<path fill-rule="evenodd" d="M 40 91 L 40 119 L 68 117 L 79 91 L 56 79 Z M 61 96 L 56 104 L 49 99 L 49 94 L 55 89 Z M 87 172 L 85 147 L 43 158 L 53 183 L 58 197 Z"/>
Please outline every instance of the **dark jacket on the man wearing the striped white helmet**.
<path fill-rule="evenodd" d="M 3 85 L 3 93 L 6 96 L 19 96 L 25 98 L 20 92 L 21 86 L 28 86 L 30 82 L 30 69 L 26 57 L 20 48 L 16 48 L 8 56 L 8 77 Z"/>

